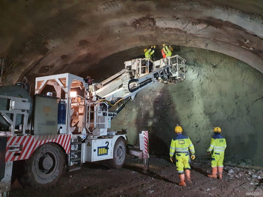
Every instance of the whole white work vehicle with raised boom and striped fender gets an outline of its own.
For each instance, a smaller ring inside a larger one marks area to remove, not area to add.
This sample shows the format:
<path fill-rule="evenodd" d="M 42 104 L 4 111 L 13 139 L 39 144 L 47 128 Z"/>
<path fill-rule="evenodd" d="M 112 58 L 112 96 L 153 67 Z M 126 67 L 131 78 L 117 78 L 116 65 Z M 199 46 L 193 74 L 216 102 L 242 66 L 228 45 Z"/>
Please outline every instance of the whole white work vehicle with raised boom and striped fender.
<path fill-rule="evenodd" d="M 100 84 L 69 73 L 37 77 L 33 100 L 25 78 L 0 88 L 0 196 L 8 195 L 12 169 L 24 187 L 39 188 L 56 183 L 64 166 L 72 171 L 107 159 L 120 168 L 126 146 L 144 158 L 140 147 L 126 144 L 126 129 L 110 130 L 111 119 L 150 84 L 184 80 L 185 61 L 178 55 L 127 61 Z"/>

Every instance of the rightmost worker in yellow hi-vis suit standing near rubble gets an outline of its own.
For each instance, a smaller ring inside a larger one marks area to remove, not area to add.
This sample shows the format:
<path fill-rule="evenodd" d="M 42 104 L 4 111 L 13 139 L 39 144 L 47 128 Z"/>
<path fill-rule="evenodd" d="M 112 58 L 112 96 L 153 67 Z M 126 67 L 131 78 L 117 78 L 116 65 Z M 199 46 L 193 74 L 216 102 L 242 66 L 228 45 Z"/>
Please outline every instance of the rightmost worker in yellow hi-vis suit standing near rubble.
<path fill-rule="evenodd" d="M 220 133 L 220 127 L 215 127 L 214 136 L 207 150 L 207 154 L 211 155 L 212 166 L 212 174 L 208 174 L 207 176 L 214 179 L 217 178 L 217 171 L 219 179 L 222 179 L 224 153 L 227 147 L 226 139 Z"/>

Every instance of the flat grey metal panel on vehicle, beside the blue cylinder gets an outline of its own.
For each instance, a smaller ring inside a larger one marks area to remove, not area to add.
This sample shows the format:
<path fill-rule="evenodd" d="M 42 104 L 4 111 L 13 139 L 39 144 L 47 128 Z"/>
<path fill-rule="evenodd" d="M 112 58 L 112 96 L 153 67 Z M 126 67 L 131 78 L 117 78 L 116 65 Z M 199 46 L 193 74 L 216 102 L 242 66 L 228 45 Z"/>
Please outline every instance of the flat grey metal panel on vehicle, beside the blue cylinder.
<path fill-rule="evenodd" d="M 34 135 L 57 135 L 58 98 L 35 95 Z"/>

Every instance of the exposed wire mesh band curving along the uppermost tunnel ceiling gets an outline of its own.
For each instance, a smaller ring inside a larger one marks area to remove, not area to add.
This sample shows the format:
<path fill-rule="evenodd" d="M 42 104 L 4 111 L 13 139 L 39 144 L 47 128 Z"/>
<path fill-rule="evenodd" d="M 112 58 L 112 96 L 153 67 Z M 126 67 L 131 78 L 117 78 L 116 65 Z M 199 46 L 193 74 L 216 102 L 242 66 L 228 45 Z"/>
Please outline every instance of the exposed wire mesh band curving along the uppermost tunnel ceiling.
<path fill-rule="evenodd" d="M 31 37 L 25 42 L 24 49 L 13 56 L 12 58 L 9 58 L 9 65 L 7 67 L 7 70 L 5 71 L 5 75 L 7 76 L 12 68 L 21 66 L 21 60 L 23 59 L 24 55 L 30 50 L 31 47 L 34 47 L 38 45 L 37 43 L 41 43 L 43 39 L 48 39 L 50 35 L 52 35 L 53 31 L 59 30 L 59 27 L 63 26 L 64 24 L 68 23 L 75 17 L 80 17 L 83 14 L 95 14 L 99 12 L 105 12 L 109 13 L 109 10 L 114 10 L 114 9 L 122 9 L 125 4 L 124 2 L 128 2 L 125 0 L 111 0 L 111 1 L 105 1 L 105 2 L 98 2 L 97 4 L 86 4 L 86 2 L 79 2 L 79 5 L 81 5 L 81 8 L 83 9 L 77 9 L 71 14 L 61 16 L 58 19 L 58 22 L 56 26 L 54 27 L 47 27 L 44 28 L 42 31 L 38 31 L 35 33 L 35 37 Z M 157 1 L 152 1 L 157 3 L 157 6 L 161 6 L 158 3 L 162 3 L 163 1 L 157 0 Z M 190 5 L 190 6 L 202 6 L 202 7 L 209 7 L 209 8 L 215 8 L 215 9 L 221 9 L 221 10 L 226 10 L 235 14 L 239 14 L 241 18 L 247 18 L 250 21 L 254 22 L 261 22 L 262 17 L 260 14 L 251 14 L 251 13 L 246 13 L 240 10 L 237 10 L 231 6 L 228 5 L 212 5 L 212 4 L 207 4 L 207 3 L 202 3 L 202 2 L 196 2 L 196 1 L 188 1 L 188 0 L 177 0 L 177 1 L 169 1 L 170 3 L 174 5 Z M 167 3 L 167 2 L 166 2 Z M 85 9 L 87 8 L 87 9 Z"/>

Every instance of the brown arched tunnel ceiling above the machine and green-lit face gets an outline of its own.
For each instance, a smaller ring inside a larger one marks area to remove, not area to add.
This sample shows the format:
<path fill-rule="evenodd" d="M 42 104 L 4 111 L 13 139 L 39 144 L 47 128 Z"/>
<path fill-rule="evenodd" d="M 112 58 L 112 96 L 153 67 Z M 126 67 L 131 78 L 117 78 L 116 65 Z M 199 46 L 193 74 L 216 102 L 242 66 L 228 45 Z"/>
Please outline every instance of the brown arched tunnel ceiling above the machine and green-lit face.
<path fill-rule="evenodd" d="M 162 43 L 217 51 L 263 72 L 260 1 L 13 1 L 0 6 L 5 84 L 24 75 L 84 75 L 109 55 Z M 133 52 L 134 57 L 143 53 Z"/>

